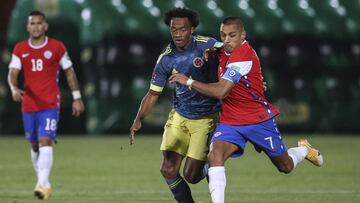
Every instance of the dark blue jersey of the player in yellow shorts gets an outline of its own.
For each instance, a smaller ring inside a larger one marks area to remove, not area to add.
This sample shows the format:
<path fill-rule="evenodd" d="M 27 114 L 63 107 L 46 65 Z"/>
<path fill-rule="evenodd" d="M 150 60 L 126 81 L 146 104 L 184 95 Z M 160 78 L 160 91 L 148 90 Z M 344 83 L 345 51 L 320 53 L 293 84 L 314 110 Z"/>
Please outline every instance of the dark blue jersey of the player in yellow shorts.
<path fill-rule="evenodd" d="M 183 73 L 189 78 L 204 83 L 217 81 L 215 61 L 204 62 L 205 49 L 217 46 L 218 42 L 209 37 L 192 36 L 188 47 L 179 51 L 171 42 L 159 56 L 153 71 L 150 91 L 161 93 L 172 73 Z M 186 118 L 199 118 L 220 111 L 219 99 L 207 97 L 186 85 L 176 84 L 173 105 L 175 111 Z"/>

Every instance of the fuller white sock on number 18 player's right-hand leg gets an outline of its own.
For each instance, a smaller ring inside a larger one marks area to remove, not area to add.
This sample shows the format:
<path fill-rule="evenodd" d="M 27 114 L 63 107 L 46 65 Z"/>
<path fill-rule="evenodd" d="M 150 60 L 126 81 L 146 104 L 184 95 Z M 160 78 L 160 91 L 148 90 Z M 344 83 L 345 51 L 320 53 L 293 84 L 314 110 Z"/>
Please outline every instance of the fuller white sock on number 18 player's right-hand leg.
<path fill-rule="evenodd" d="M 53 164 L 53 148 L 44 146 L 39 148 L 38 159 L 38 184 L 42 187 L 50 187 L 49 176 Z"/>

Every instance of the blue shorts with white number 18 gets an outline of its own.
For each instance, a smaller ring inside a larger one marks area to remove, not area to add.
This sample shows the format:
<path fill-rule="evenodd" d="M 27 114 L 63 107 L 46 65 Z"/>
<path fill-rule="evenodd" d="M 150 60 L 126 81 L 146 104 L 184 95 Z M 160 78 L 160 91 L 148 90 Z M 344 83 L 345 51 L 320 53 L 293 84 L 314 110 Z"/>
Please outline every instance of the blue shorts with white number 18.
<path fill-rule="evenodd" d="M 41 137 L 49 137 L 52 140 L 56 140 L 59 109 L 23 112 L 22 116 L 25 136 L 29 142 L 38 142 Z"/>

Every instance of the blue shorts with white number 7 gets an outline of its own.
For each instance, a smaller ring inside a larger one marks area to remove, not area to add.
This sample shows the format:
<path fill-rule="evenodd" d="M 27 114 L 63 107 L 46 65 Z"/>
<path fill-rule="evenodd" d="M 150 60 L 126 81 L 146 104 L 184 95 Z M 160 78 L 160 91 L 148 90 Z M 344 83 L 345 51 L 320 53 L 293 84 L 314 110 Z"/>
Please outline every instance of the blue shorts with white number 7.
<path fill-rule="evenodd" d="M 211 142 L 215 140 L 230 142 L 240 148 L 231 157 L 241 156 L 244 153 L 247 141 L 254 145 L 256 151 L 264 151 L 270 157 L 280 156 L 286 152 L 286 145 L 274 119 L 242 126 L 219 123 Z"/>

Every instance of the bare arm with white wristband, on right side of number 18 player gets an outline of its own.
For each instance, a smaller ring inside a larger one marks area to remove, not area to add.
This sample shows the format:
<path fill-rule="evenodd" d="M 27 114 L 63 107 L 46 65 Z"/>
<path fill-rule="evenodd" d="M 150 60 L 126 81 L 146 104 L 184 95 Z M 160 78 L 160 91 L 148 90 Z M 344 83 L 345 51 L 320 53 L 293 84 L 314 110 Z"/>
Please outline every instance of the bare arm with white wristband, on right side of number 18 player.
<path fill-rule="evenodd" d="M 72 67 L 65 69 L 64 72 L 66 81 L 74 99 L 72 103 L 72 114 L 78 117 L 85 110 L 84 103 L 81 99 L 79 83 Z"/>

